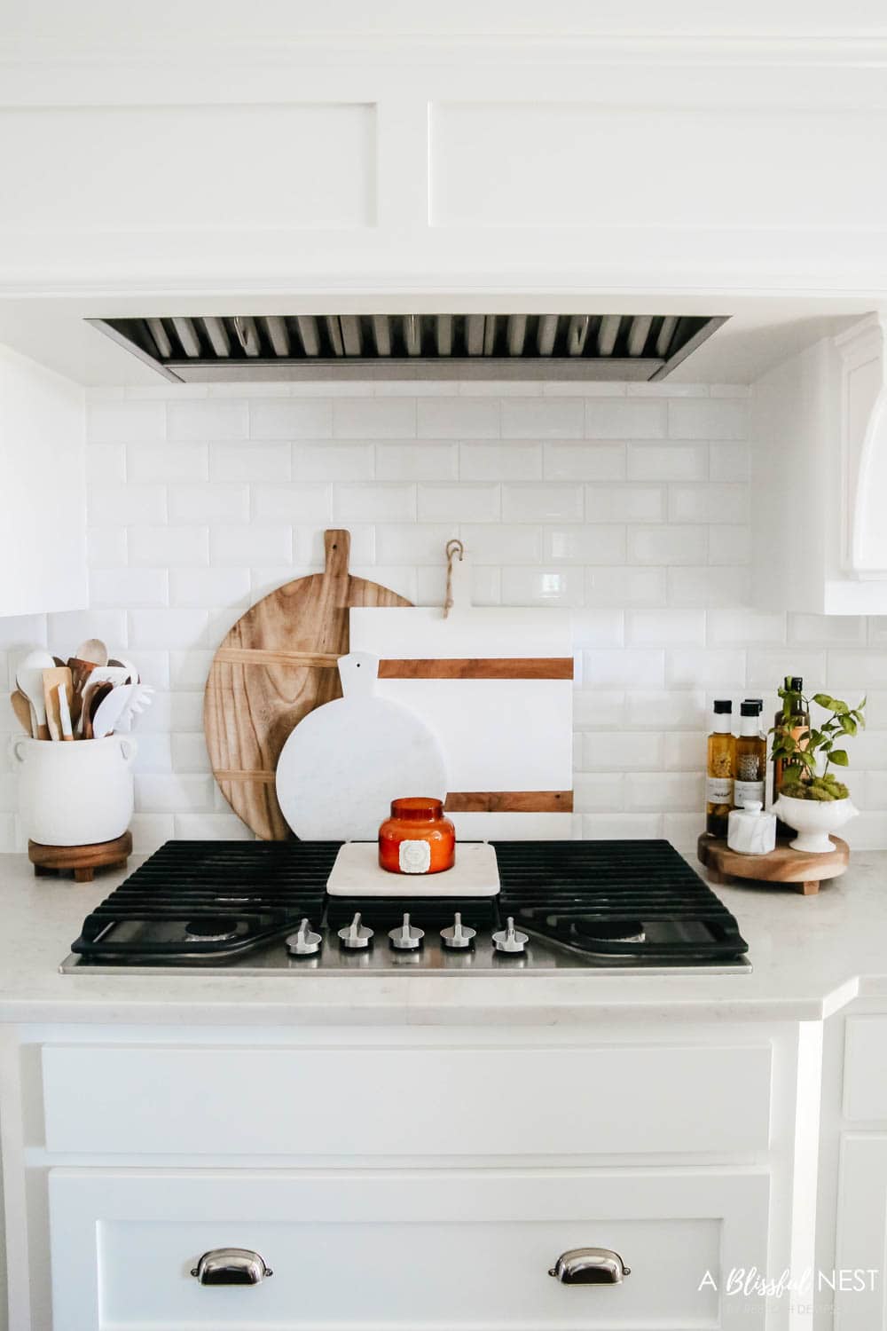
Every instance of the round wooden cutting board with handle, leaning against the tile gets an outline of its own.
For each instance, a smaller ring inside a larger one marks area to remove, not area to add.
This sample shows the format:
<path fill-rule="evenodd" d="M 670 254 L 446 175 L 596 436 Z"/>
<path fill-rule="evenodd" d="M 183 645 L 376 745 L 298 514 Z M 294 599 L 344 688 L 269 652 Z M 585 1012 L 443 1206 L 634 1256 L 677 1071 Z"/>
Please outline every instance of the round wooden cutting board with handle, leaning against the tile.
<path fill-rule="evenodd" d="M 234 812 L 266 841 L 291 832 L 274 789 L 277 760 L 303 716 L 340 697 L 351 606 L 411 606 L 352 578 L 347 531 L 324 532 L 326 568 L 278 587 L 222 639 L 203 695 L 213 773 Z"/>

